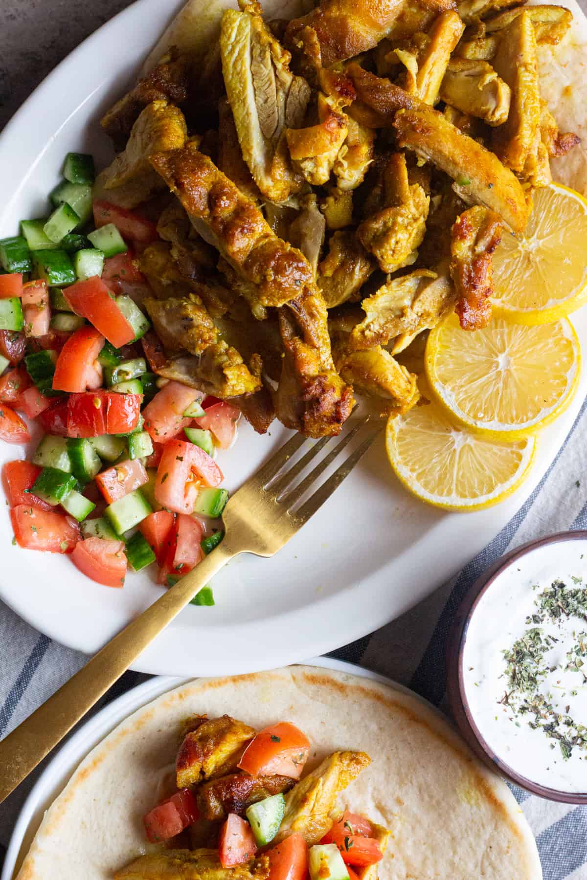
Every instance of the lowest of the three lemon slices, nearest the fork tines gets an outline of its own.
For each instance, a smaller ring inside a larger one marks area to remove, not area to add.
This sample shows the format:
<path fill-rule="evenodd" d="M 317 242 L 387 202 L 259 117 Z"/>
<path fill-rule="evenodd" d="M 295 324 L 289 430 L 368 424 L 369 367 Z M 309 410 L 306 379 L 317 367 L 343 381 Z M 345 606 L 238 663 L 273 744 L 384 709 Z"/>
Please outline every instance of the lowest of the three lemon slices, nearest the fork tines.
<path fill-rule="evenodd" d="M 422 501 L 447 510 L 482 510 L 525 480 L 536 438 L 499 443 L 471 434 L 432 402 L 391 416 L 385 448 L 400 481 Z"/>

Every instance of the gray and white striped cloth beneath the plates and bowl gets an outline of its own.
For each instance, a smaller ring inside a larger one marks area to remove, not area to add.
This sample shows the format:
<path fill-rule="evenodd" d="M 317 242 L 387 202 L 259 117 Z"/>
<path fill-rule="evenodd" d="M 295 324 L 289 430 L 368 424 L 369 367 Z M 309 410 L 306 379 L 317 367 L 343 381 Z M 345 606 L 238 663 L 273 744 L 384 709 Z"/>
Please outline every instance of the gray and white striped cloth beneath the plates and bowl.
<path fill-rule="evenodd" d="M 451 583 L 376 633 L 334 652 L 414 688 L 444 708 L 444 650 L 452 615 L 466 589 L 512 547 L 565 529 L 587 528 L 587 401 L 544 479 L 495 539 Z M 84 664 L 0 604 L 0 737 Z M 146 678 L 128 672 L 100 705 Z M 26 794 L 40 773 L 0 805 L 0 862 Z M 514 788 L 538 841 L 545 880 L 587 880 L 587 808 L 544 801 Z M 476 878 L 471 878 L 476 880 Z"/>

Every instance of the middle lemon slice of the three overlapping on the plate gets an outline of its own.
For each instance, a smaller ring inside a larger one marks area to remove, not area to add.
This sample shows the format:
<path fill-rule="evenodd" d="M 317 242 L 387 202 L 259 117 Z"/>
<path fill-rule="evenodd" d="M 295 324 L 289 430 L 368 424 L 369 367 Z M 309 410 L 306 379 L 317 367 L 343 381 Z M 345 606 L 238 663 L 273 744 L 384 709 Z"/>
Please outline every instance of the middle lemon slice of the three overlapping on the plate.
<path fill-rule="evenodd" d="M 432 393 L 453 421 L 511 440 L 553 422 L 579 379 L 581 348 L 568 318 L 524 326 L 493 318 L 474 332 L 452 313 L 428 337 Z"/>

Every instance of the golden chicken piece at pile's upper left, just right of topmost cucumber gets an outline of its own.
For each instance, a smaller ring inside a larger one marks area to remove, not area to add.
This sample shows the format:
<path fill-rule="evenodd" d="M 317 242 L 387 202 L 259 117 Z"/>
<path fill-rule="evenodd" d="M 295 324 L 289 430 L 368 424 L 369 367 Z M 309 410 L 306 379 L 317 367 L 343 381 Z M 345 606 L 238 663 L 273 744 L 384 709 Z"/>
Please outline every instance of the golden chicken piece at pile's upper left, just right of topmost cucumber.
<path fill-rule="evenodd" d="M 123 152 L 94 184 L 94 198 L 112 198 L 124 208 L 136 208 L 159 190 L 165 182 L 149 164 L 149 157 L 161 150 L 176 150 L 187 139 L 186 121 L 181 111 L 166 100 L 153 101 L 139 115 Z"/>

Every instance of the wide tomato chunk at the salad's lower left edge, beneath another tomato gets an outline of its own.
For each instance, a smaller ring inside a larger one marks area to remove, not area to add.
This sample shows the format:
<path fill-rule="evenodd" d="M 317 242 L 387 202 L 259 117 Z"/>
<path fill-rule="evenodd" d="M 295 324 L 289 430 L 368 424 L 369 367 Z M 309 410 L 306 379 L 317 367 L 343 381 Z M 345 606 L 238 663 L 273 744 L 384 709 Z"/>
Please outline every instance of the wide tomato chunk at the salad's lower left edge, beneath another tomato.
<path fill-rule="evenodd" d="M 28 503 L 12 508 L 11 523 L 17 544 L 28 550 L 72 553 L 82 537 L 73 517 L 53 510 L 40 510 Z"/>

